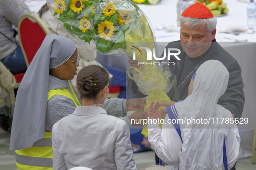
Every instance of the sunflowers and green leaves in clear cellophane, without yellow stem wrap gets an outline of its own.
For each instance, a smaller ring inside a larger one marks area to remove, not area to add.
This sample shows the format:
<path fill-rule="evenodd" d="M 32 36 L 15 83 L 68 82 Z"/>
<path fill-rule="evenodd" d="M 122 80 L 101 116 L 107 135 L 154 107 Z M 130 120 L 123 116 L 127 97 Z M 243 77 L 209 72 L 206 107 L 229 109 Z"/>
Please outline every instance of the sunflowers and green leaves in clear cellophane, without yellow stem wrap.
<path fill-rule="evenodd" d="M 139 28 L 144 14 L 128 0 L 47 0 L 59 23 L 73 36 L 90 43 L 96 41 L 97 50 L 104 55 L 123 55 L 126 39 L 133 29 Z M 150 29 L 144 28 L 144 29 Z M 151 31 L 151 29 L 150 29 Z M 146 37 L 147 36 L 147 37 Z M 140 36 L 146 42 L 153 33 Z"/>

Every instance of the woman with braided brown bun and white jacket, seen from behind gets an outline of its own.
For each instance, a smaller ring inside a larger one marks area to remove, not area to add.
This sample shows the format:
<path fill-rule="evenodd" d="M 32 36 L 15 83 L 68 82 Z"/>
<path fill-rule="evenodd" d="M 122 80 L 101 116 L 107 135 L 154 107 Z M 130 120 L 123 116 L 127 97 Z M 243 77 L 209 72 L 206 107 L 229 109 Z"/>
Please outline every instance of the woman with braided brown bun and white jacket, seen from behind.
<path fill-rule="evenodd" d="M 53 169 L 88 167 L 93 170 L 136 170 L 126 122 L 102 108 L 109 74 L 89 65 L 77 76 L 81 106 L 52 128 Z"/>

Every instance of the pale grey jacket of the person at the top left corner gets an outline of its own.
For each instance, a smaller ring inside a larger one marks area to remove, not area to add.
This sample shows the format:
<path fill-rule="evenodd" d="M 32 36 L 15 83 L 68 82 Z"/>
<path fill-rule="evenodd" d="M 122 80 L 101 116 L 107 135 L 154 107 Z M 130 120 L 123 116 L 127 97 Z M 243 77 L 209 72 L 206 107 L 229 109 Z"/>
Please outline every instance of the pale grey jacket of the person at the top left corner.
<path fill-rule="evenodd" d="M 20 0 L 0 0 L 0 60 L 10 55 L 16 48 L 12 25 L 18 27 L 19 18 L 30 13 L 28 6 Z"/>

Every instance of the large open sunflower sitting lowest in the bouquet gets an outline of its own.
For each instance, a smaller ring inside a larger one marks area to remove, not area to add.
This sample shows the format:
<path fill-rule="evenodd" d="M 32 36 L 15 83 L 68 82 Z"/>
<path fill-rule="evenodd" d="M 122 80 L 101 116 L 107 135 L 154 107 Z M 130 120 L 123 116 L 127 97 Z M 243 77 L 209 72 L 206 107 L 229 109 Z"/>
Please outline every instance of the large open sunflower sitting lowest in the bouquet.
<path fill-rule="evenodd" d="M 110 37 L 114 34 L 114 30 L 116 29 L 114 29 L 111 21 L 105 21 L 98 24 L 98 30 L 100 37 L 104 38 L 104 40 L 110 40 Z"/>

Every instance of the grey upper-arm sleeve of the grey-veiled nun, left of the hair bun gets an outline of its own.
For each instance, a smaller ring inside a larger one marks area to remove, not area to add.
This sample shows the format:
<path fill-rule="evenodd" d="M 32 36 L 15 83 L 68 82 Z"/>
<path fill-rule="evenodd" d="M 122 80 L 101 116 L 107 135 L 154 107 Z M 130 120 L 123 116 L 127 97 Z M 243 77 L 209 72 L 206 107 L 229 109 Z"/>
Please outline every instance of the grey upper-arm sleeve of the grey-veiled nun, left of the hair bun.
<path fill-rule="evenodd" d="M 74 102 L 66 96 L 54 95 L 47 102 L 45 129 L 52 132 L 52 126 L 63 117 L 75 111 Z"/>

